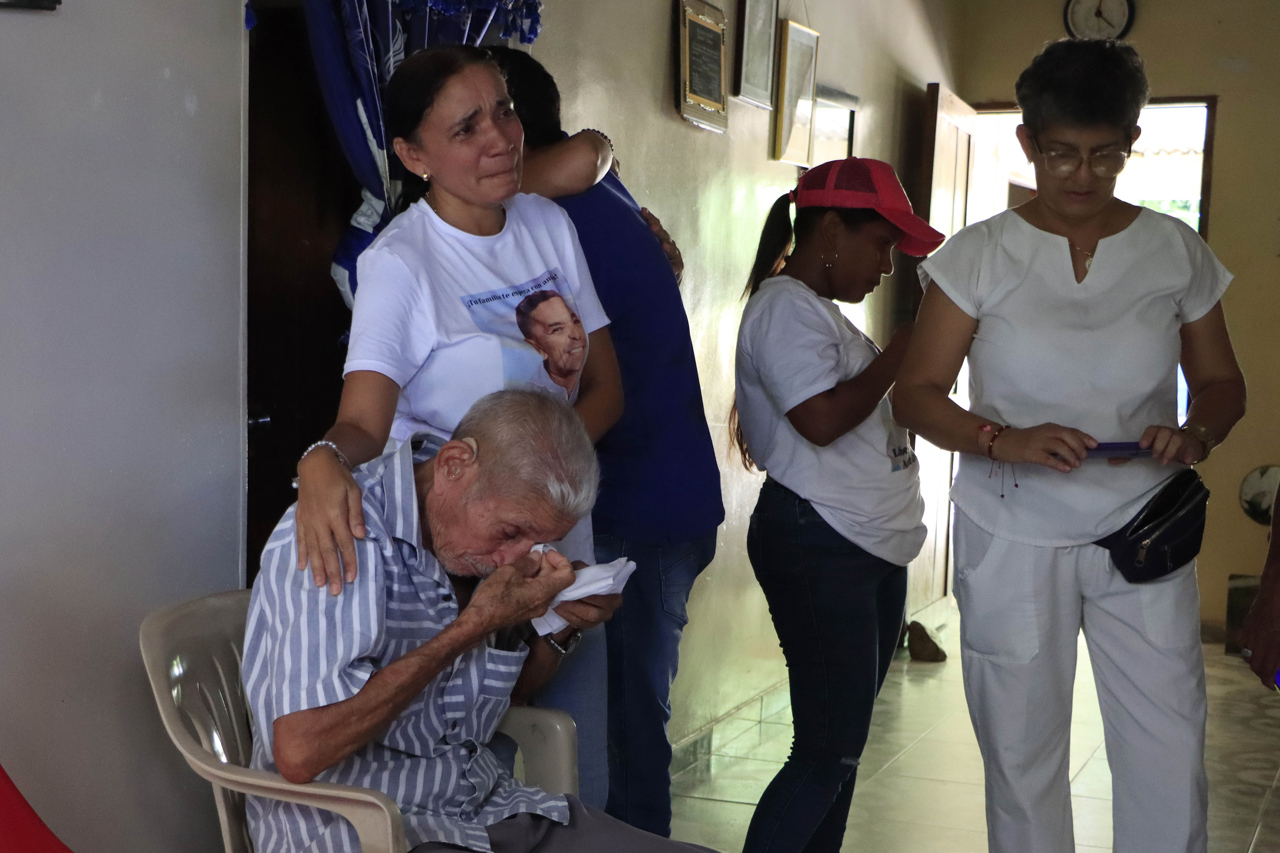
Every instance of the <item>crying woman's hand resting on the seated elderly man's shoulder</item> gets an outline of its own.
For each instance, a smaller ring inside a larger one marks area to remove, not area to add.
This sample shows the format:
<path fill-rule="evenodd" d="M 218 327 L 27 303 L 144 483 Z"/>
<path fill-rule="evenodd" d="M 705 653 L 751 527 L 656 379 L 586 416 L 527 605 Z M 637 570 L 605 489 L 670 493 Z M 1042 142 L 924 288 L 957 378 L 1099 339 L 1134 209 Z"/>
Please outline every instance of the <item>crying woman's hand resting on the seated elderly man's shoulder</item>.
<path fill-rule="evenodd" d="M 356 579 L 356 543 L 365 538 L 360 487 L 347 466 L 325 448 L 298 462 L 298 570 L 311 566 L 316 587 L 342 592 Z"/>

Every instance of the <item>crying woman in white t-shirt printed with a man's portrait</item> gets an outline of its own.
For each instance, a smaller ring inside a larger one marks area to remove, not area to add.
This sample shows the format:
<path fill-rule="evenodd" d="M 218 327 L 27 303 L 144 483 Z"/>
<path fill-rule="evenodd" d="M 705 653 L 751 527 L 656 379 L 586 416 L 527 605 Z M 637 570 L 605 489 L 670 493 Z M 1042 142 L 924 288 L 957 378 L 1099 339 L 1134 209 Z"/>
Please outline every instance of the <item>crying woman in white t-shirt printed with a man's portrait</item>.
<path fill-rule="evenodd" d="M 340 594 L 355 579 L 353 538 L 365 535 L 361 493 L 348 470 L 380 456 L 388 439 L 448 439 L 471 405 L 503 388 L 538 388 L 572 403 L 591 441 L 622 414 L 622 380 L 573 224 L 543 196 L 591 187 L 608 170 L 608 141 L 584 131 L 525 155 L 524 128 L 492 56 L 471 46 L 407 58 L 383 97 L 387 138 L 425 195 L 360 256 L 346 383 L 337 423 L 298 462 L 298 569 Z M 532 195 L 539 193 L 539 195 Z M 540 300 L 525 324 L 518 306 Z M 529 525 L 493 519 L 476 564 L 497 569 L 538 543 Z M 557 549 L 595 562 L 590 516 Z M 489 556 L 485 556 L 489 555 Z M 317 593 L 320 594 L 320 593 Z M 590 619 L 561 611 L 570 628 L 530 643 L 552 669 L 538 694 L 570 712 L 579 733 L 579 795 L 603 808 L 605 649 L 603 597 Z"/>

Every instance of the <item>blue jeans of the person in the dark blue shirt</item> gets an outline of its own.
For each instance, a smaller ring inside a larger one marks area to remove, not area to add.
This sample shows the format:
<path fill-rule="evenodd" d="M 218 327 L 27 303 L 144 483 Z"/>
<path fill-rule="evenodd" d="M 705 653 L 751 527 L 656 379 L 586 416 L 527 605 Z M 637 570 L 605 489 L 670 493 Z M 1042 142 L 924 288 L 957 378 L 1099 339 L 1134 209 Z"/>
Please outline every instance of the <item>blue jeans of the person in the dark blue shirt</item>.
<path fill-rule="evenodd" d="M 694 580 L 716 556 L 716 533 L 652 546 L 595 537 L 595 558 L 627 557 L 636 570 L 622 607 L 604 624 L 609 647 L 609 802 L 631 826 L 671 835 L 671 683 L 680 661 L 685 605 Z"/>

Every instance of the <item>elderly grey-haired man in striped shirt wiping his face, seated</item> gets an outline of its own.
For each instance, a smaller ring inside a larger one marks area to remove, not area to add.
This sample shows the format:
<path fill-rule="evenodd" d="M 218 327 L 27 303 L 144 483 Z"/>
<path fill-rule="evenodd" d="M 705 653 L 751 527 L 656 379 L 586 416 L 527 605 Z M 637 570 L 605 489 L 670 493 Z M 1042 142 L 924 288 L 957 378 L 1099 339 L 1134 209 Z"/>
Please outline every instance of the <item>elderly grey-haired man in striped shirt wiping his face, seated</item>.
<path fill-rule="evenodd" d="M 340 596 L 294 569 L 292 508 L 262 552 L 243 662 L 252 766 L 384 792 L 415 853 L 701 849 L 521 785 L 485 747 L 512 697 L 540 686 L 562 653 L 529 620 L 573 569 L 531 548 L 562 538 L 595 501 L 599 467 L 572 409 L 500 391 L 452 441 L 417 452 L 406 442 L 353 474 L 367 535 Z M 586 629 L 620 599 L 557 612 Z M 255 797 L 247 812 L 259 853 L 360 848 L 329 812 Z"/>

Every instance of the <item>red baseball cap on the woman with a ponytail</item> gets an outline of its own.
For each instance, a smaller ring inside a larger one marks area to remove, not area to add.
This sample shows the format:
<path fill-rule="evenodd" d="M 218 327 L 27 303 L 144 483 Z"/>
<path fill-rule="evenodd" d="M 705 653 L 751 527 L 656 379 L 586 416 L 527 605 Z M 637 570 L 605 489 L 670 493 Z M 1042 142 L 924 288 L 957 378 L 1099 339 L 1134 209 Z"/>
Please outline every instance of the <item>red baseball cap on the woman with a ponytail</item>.
<path fill-rule="evenodd" d="M 881 160 L 849 158 L 817 165 L 791 191 L 796 210 L 804 207 L 870 207 L 902 229 L 897 245 L 905 255 L 923 257 L 946 237 L 911 210 L 893 167 Z"/>

